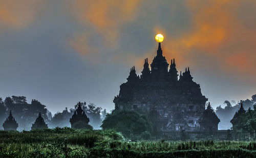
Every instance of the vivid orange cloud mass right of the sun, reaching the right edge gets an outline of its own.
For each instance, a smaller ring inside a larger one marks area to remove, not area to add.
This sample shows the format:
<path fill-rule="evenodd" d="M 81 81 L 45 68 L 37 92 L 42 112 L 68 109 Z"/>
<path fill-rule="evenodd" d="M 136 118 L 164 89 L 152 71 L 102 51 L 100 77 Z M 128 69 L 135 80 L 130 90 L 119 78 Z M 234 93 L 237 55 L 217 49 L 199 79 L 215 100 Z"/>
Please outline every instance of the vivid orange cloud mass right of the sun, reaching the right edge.
<path fill-rule="evenodd" d="M 243 3 L 254 6 L 250 13 L 256 14 L 255 1 L 188 1 L 193 27 L 179 38 L 165 40 L 165 49 L 170 52 L 166 58 L 175 55 L 182 62 L 193 65 L 193 58 L 200 58 L 200 54 L 194 55 L 195 52 L 200 52 L 220 62 L 215 66 L 222 67 L 219 68 L 221 71 L 239 69 L 243 75 L 253 72 L 256 66 L 253 62 L 256 61 L 256 28 L 248 29 L 238 18 L 245 11 L 241 9 Z M 252 14 L 247 14 L 246 18 L 248 16 L 251 17 L 248 21 L 256 22 Z M 255 79 L 256 73 L 253 76 Z"/>

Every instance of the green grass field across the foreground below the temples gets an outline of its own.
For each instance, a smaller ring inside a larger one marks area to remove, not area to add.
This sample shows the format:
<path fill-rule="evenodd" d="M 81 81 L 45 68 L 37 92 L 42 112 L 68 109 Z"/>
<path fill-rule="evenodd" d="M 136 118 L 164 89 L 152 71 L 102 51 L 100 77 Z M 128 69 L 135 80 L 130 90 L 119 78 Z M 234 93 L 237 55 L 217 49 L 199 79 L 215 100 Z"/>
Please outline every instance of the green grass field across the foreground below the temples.
<path fill-rule="evenodd" d="M 0 150 L 0 157 L 256 157 L 256 142 L 130 142 L 114 130 L 55 128 L 0 131 Z"/>

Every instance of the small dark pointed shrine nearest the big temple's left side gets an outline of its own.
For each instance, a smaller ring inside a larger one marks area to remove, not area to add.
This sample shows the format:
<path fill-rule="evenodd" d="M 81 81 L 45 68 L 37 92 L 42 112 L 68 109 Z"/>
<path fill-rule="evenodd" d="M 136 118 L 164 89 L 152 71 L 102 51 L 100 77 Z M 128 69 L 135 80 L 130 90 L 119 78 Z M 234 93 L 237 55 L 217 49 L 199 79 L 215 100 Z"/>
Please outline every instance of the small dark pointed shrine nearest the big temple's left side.
<path fill-rule="evenodd" d="M 86 113 L 83 111 L 81 107 L 81 103 L 78 103 L 78 107 L 75 110 L 72 118 L 70 118 L 71 128 L 90 128 L 91 126 L 88 125 L 89 118 L 87 117 Z"/>

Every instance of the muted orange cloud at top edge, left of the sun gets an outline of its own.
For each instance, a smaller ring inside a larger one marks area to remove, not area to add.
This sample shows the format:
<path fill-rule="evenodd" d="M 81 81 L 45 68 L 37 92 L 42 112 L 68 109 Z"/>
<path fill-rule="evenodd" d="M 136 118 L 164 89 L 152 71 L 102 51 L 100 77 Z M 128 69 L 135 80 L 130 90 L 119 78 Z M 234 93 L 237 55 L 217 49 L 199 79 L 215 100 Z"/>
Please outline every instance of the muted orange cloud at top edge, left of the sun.
<path fill-rule="evenodd" d="M 120 27 L 136 16 L 139 1 L 76 1 L 72 3 L 75 16 L 82 24 L 95 28 L 106 47 L 116 47 Z"/>

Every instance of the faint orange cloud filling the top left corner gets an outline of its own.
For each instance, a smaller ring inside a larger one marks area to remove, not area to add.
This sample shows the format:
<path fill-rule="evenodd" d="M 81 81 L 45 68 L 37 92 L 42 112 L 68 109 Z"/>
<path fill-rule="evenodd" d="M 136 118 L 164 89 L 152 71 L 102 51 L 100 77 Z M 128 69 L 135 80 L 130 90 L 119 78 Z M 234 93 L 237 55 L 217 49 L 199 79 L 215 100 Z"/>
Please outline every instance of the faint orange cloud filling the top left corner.
<path fill-rule="evenodd" d="M 0 1 L 2 26 L 25 27 L 35 19 L 36 14 L 43 6 L 43 1 Z"/>

